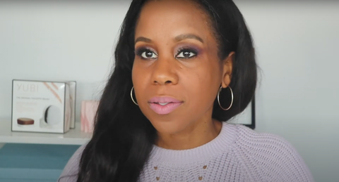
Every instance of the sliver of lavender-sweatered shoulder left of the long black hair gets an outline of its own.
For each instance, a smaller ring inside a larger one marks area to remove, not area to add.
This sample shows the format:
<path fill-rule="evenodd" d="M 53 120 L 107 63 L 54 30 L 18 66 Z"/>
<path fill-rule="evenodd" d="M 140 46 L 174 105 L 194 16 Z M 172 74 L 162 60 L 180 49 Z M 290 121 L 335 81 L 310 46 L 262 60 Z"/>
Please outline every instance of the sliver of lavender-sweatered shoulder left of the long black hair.
<path fill-rule="evenodd" d="M 83 149 L 85 145 L 81 145 L 76 152 L 72 155 L 67 162 L 66 167 L 62 171 L 58 182 L 76 182 L 78 179 L 79 164 L 81 160 L 81 155 L 83 154 Z"/>

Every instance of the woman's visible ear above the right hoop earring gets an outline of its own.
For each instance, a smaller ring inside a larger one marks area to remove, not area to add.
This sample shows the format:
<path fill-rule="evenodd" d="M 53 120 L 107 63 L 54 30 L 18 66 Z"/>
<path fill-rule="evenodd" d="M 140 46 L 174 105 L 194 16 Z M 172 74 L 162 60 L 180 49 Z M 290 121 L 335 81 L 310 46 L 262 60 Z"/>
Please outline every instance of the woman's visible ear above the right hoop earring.
<path fill-rule="evenodd" d="M 227 58 L 222 60 L 222 88 L 226 88 L 231 83 L 234 58 L 235 53 L 232 51 Z"/>

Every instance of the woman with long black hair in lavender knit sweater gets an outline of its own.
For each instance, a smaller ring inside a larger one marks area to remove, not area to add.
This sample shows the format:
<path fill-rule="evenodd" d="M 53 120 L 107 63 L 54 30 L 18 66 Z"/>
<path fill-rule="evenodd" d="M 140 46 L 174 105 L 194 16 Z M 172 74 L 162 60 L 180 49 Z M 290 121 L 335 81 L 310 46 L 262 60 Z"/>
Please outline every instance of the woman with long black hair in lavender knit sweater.
<path fill-rule="evenodd" d="M 283 138 L 226 123 L 254 96 L 254 57 L 231 0 L 134 0 L 93 138 L 59 181 L 313 181 Z"/>

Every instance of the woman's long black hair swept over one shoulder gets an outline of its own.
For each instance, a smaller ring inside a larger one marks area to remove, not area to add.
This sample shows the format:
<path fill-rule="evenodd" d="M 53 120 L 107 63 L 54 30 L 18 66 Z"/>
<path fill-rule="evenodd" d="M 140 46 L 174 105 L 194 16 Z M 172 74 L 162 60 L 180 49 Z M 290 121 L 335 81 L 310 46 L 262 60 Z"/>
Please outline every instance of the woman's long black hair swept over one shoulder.
<path fill-rule="evenodd" d="M 93 138 L 81 156 L 78 182 L 137 181 L 153 148 L 155 128 L 130 97 L 134 31 L 145 1 L 148 0 L 133 0 L 121 25 L 114 71 L 100 100 Z M 235 52 L 230 82 L 234 93 L 232 108 L 221 110 L 216 100 L 213 107 L 213 118 L 225 122 L 242 112 L 254 96 L 257 73 L 251 34 L 232 0 L 194 0 L 194 3 L 210 17 L 220 60 Z M 225 101 L 226 106 L 229 104 Z"/>

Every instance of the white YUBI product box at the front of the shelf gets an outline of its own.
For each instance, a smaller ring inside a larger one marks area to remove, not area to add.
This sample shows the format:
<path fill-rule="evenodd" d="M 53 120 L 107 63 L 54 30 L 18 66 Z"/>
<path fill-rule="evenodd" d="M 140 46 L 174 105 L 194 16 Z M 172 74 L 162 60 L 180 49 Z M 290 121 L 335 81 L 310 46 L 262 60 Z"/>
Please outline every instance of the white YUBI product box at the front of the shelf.
<path fill-rule="evenodd" d="M 12 131 L 64 134 L 71 124 L 69 82 L 12 82 Z"/>

